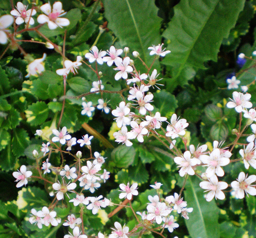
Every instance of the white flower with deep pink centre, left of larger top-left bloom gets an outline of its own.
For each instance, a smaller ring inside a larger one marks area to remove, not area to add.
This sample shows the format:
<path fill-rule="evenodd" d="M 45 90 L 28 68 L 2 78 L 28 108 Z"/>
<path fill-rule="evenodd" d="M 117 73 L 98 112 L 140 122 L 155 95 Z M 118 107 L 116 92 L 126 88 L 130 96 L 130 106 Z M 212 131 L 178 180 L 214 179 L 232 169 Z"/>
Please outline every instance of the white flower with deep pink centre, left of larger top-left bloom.
<path fill-rule="evenodd" d="M 26 22 L 26 24 L 29 22 L 29 25 L 34 25 L 35 21 L 31 16 L 35 15 L 37 12 L 35 9 L 29 9 L 27 11 L 27 7 L 21 2 L 17 2 L 17 10 L 11 11 L 11 15 L 16 17 L 15 22 L 17 25 L 22 24 L 24 21 Z"/>

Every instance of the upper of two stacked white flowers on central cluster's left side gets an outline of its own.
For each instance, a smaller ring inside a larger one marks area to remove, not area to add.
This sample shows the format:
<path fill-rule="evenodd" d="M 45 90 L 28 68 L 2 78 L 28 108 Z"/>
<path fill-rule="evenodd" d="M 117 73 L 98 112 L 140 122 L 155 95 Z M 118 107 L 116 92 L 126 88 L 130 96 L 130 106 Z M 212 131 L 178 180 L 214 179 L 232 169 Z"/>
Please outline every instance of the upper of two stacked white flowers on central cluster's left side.
<path fill-rule="evenodd" d="M 114 120 L 117 122 L 118 127 L 122 125 L 129 125 L 131 118 L 129 117 L 130 108 L 125 105 L 125 102 L 119 103 L 119 107 L 112 111 L 112 115 L 117 116 Z"/>

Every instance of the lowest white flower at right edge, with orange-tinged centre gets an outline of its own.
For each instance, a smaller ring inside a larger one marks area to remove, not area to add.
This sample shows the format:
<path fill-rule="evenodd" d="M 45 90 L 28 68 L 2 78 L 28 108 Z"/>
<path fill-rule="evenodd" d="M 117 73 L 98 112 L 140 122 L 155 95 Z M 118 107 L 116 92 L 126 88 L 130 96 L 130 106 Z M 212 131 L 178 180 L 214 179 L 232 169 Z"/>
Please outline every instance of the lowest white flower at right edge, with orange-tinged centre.
<path fill-rule="evenodd" d="M 256 181 L 256 175 L 250 175 L 247 178 L 244 172 L 241 172 L 238 176 L 237 181 L 231 183 L 231 187 L 235 189 L 236 198 L 244 198 L 244 192 L 249 193 L 252 196 L 256 195 L 256 189 L 253 187 L 255 185 L 250 185 Z"/>

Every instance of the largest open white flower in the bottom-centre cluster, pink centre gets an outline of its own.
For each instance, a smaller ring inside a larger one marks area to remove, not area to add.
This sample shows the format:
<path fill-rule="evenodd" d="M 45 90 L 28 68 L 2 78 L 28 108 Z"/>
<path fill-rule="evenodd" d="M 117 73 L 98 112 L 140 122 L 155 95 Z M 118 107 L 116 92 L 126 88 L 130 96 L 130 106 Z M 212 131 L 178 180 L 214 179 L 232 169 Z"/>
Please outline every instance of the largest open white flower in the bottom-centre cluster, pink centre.
<path fill-rule="evenodd" d="M 171 213 L 171 210 L 167 210 L 165 203 L 157 203 L 156 206 L 149 204 L 147 210 L 147 220 L 151 221 L 155 219 L 157 224 L 161 224 L 162 216 L 167 216 Z"/>

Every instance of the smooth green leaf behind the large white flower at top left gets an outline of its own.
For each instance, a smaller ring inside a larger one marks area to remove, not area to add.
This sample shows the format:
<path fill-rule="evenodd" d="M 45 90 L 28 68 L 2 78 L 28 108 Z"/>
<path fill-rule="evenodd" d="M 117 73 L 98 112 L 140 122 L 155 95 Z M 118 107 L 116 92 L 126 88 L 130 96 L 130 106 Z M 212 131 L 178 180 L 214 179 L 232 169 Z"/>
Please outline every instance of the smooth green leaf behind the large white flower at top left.
<path fill-rule="evenodd" d="M 68 26 L 64 26 L 63 28 L 57 27 L 55 30 L 50 30 L 48 24 L 45 24 L 40 27 L 39 31 L 46 37 L 63 34 L 65 30 L 71 30 L 73 27 L 75 27 L 77 22 L 81 19 L 81 16 L 80 9 L 71 9 L 66 15 L 63 16 L 64 18 L 69 19 L 70 24 Z"/>

